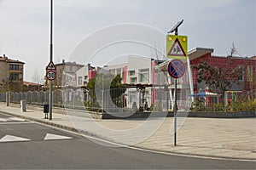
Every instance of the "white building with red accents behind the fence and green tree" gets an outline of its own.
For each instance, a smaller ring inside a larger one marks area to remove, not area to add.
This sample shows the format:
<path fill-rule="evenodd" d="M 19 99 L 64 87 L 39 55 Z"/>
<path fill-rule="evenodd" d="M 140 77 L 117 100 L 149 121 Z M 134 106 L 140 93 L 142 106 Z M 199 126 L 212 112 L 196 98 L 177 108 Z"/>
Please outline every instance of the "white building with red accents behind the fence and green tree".
<path fill-rule="evenodd" d="M 142 56 L 127 56 L 126 62 L 119 65 L 104 65 L 103 68 L 97 69 L 90 64 L 84 65 L 77 71 L 77 86 L 86 86 L 90 78 L 96 77 L 96 71 L 101 72 L 103 69 L 122 77 L 122 83 L 128 87 L 125 92 L 128 108 L 134 103 L 137 108 L 147 103 L 148 107 L 160 104 L 163 110 L 170 109 L 173 105 L 174 79 L 168 75 L 166 69 L 168 63 L 169 61 Z M 189 74 L 186 73 L 177 80 L 177 99 L 187 100 L 189 94 Z"/>

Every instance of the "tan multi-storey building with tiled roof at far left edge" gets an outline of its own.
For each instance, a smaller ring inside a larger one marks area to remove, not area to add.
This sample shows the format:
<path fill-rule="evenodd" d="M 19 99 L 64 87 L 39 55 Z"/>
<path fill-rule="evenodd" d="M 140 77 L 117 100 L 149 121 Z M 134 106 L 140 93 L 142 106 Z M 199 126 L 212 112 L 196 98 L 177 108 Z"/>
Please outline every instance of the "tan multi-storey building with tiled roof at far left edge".
<path fill-rule="evenodd" d="M 9 59 L 5 54 L 0 56 L 0 89 L 1 91 L 21 91 L 25 63 Z"/>

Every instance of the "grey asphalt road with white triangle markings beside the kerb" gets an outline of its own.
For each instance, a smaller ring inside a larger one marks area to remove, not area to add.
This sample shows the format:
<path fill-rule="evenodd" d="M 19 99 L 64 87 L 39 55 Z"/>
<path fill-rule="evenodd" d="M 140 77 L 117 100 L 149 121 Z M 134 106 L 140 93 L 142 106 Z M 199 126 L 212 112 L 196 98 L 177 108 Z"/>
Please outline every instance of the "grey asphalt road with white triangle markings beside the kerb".
<path fill-rule="evenodd" d="M 78 134 L 0 114 L 1 169 L 255 169 L 253 161 L 163 155 L 96 144 Z"/>

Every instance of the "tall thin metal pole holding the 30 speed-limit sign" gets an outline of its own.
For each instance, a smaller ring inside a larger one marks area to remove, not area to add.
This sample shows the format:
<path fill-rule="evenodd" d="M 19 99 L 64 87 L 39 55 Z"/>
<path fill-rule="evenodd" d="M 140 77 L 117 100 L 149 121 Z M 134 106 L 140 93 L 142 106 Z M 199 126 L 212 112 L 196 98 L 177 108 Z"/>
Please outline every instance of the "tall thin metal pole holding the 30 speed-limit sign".
<path fill-rule="evenodd" d="M 50 36 L 49 36 L 49 61 L 53 59 L 52 25 L 53 25 L 53 0 L 50 0 Z M 52 81 L 49 81 L 49 120 L 52 120 Z"/>

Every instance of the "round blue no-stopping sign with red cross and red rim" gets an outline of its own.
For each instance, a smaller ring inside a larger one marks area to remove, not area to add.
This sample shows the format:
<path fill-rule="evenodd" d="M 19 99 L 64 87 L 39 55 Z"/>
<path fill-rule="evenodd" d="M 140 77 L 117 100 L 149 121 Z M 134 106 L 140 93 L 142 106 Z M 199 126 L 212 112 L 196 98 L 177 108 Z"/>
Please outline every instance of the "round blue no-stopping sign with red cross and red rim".
<path fill-rule="evenodd" d="M 180 59 L 172 59 L 168 65 L 168 73 L 173 78 L 183 77 L 185 74 L 185 65 Z"/>

